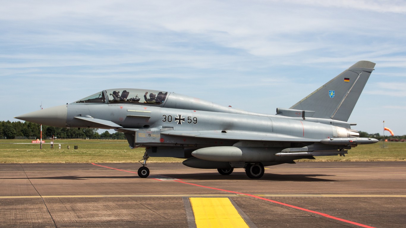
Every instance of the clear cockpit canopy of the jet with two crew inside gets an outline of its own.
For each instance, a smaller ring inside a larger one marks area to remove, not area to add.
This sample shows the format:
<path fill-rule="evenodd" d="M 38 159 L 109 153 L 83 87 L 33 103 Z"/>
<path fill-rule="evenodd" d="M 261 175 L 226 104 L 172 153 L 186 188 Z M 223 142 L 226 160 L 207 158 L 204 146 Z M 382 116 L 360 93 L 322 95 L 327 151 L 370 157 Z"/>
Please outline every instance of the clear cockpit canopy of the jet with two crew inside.
<path fill-rule="evenodd" d="M 144 89 L 108 89 L 95 93 L 73 103 L 136 103 L 162 104 L 168 92 Z"/>

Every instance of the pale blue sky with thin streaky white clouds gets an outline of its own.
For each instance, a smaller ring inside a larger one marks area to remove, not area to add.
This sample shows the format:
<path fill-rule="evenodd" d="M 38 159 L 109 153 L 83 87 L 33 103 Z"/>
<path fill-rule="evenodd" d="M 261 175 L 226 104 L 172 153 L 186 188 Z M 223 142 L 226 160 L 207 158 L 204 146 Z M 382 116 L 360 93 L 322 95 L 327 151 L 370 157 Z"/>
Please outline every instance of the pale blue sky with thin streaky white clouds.
<path fill-rule="evenodd" d="M 275 114 L 366 60 L 348 122 L 406 135 L 404 1 L 0 2 L 0 121 L 114 88 Z"/>

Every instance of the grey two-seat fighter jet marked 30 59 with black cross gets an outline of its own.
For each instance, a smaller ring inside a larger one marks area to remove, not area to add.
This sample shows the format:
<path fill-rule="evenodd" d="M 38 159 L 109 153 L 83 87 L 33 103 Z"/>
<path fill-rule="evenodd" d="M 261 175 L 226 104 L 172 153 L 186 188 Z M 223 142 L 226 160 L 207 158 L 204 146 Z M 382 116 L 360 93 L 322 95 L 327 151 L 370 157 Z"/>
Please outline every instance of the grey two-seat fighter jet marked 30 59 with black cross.
<path fill-rule="evenodd" d="M 123 132 L 130 148 L 145 148 L 138 176 L 146 178 L 149 157 L 186 159 L 183 164 L 229 175 L 244 168 L 261 178 L 264 167 L 315 156 L 345 156 L 360 138 L 348 122 L 374 70 L 359 61 L 322 87 L 275 115 L 261 114 L 149 89 L 107 89 L 70 104 L 15 118 L 61 128 Z M 264 101 L 266 102 L 266 101 Z"/>

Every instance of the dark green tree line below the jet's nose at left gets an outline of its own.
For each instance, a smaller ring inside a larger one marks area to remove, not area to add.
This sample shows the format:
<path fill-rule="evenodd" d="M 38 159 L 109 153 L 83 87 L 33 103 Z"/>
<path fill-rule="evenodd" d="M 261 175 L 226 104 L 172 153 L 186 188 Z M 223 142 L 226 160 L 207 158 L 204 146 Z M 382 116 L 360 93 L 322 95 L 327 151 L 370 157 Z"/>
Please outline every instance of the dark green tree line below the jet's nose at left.
<path fill-rule="evenodd" d="M 42 138 L 50 139 L 125 139 L 121 132 L 110 134 L 107 130 L 102 134 L 95 128 L 56 128 L 42 125 Z M 0 122 L 0 139 L 39 139 L 41 125 L 31 122 Z"/>

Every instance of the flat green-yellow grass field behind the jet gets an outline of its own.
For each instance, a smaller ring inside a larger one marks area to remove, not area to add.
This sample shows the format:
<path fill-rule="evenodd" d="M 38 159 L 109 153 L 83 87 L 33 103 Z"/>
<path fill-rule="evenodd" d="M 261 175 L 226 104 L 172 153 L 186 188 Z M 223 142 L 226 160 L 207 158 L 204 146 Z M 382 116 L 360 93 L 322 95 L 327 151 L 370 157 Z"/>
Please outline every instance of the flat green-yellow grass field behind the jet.
<path fill-rule="evenodd" d="M 144 148 L 130 149 L 126 140 L 83 140 L 58 139 L 54 149 L 50 140 L 45 140 L 43 149 L 31 140 L 0 139 L 0 163 L 137 163 L 144 154 Z M 61 149 L 58 149 L 61 144 Z M 67 149 L 67 146 L 70 149 Z M 74 146 L 78 150 L 74 150 Z M 180 163 L 184 159 L 150 158 L 148 163 Z M 371 145 L 359 145 L 343 156 L 319 156 L 313 161 L 406 161 L 406 143 L 382 142 Z"/>

